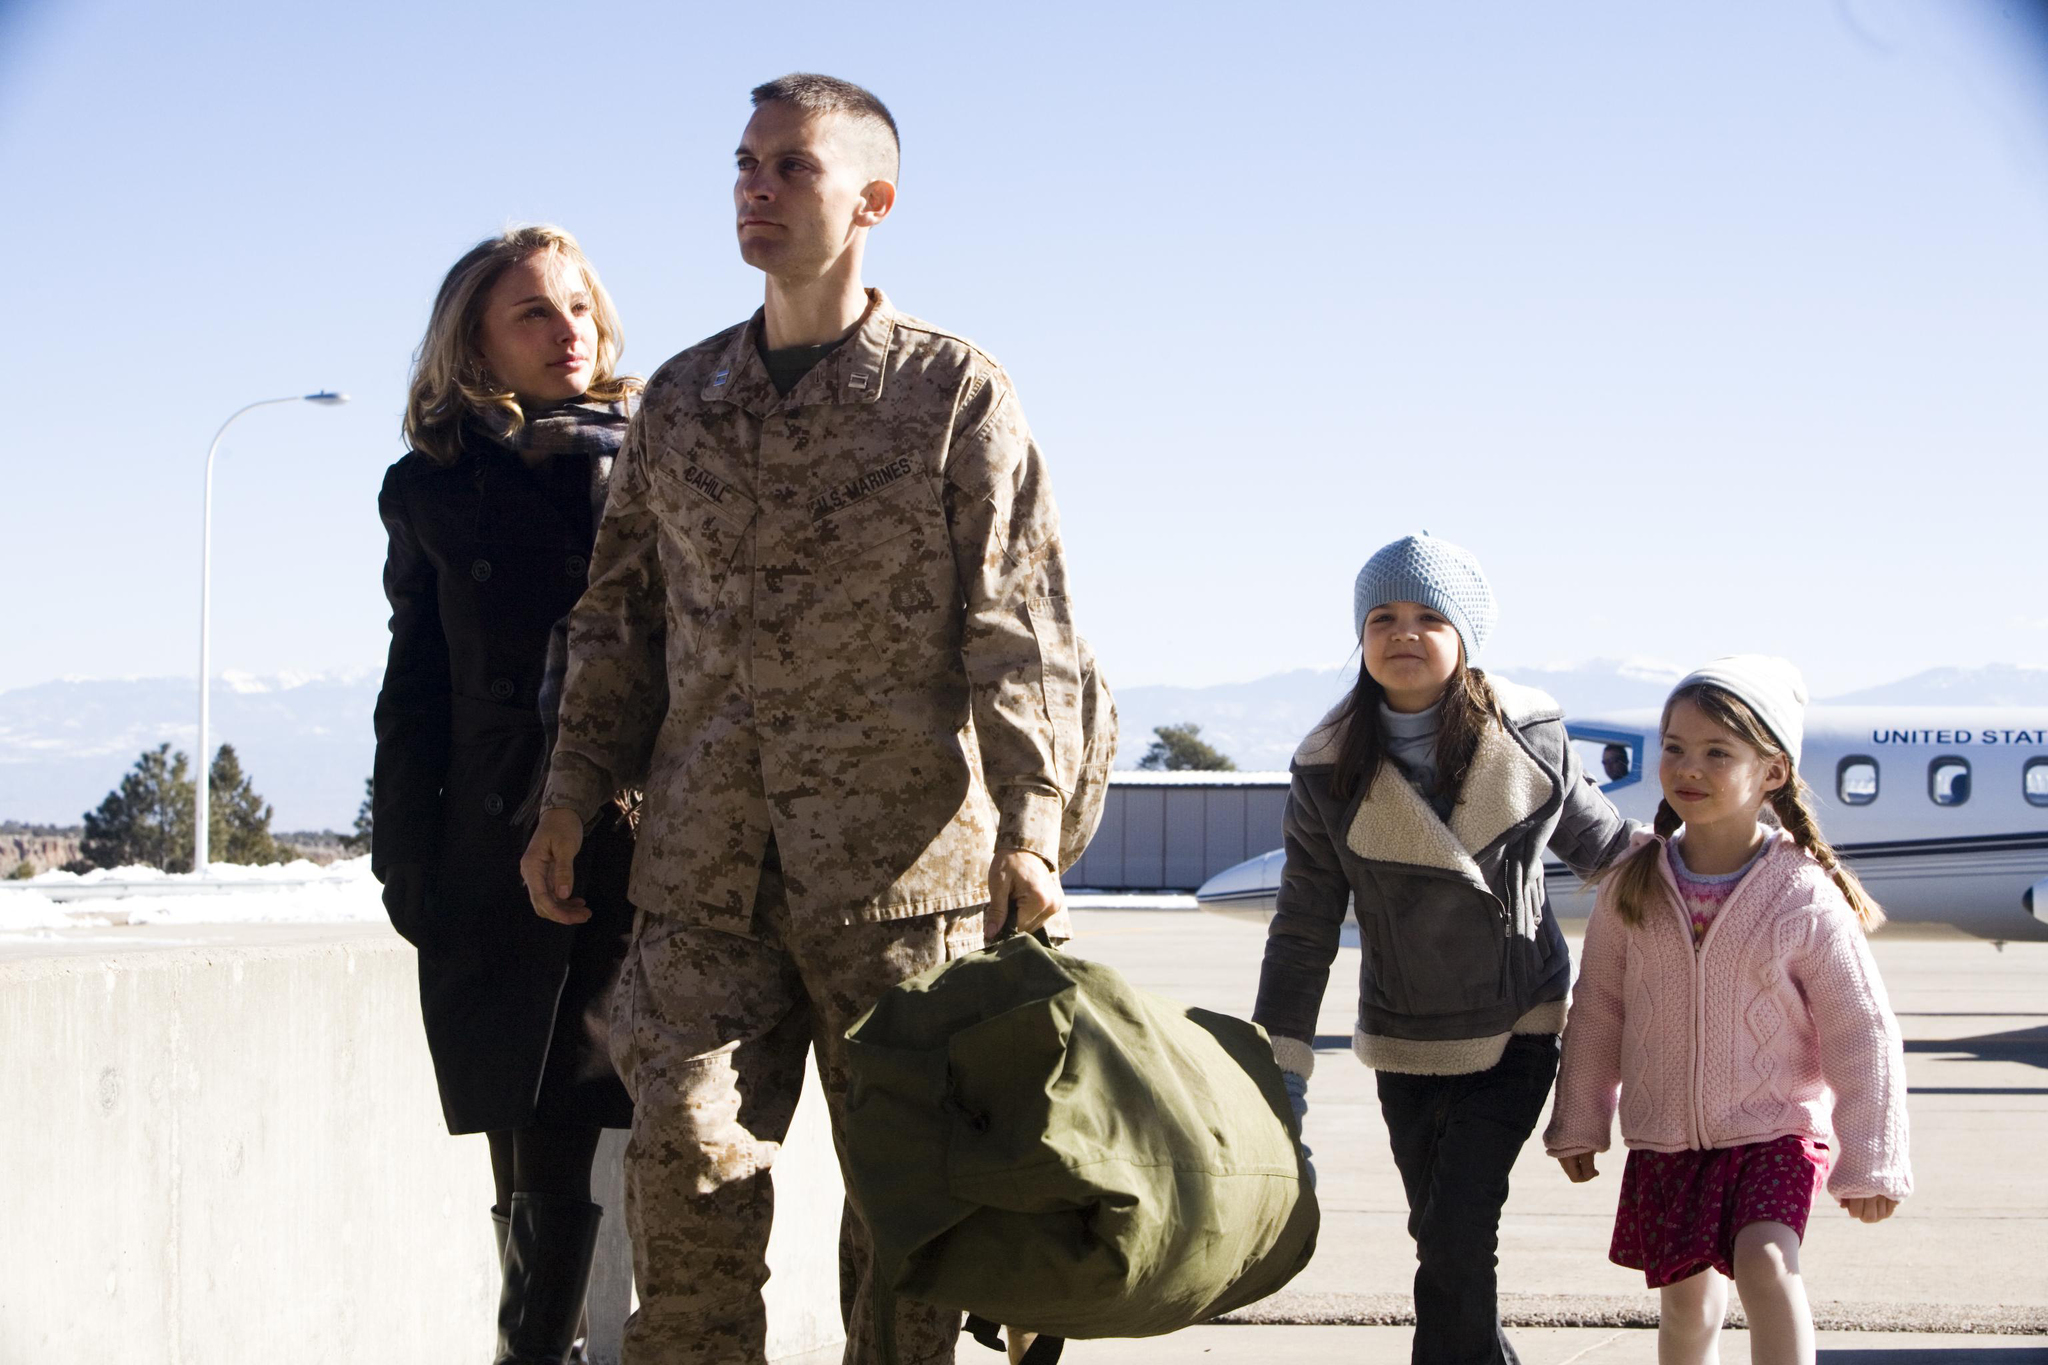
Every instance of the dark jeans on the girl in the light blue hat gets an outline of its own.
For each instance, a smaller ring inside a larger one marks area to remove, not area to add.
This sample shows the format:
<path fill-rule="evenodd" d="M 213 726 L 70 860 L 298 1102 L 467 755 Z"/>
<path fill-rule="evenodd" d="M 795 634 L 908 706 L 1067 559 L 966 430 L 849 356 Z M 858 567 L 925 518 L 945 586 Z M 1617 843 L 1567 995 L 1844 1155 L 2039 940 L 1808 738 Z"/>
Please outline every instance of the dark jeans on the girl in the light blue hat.
<path fill-rule="evenodd" d="M 1495 1248 L 1507 1173 L 1556 1078 L 1556 1036 L 1516 1036 L 1468 1076 L 1376 1072 L 1415 1238 L 1415 1365 L 1520 1365 L 1501 1330 Z"/>

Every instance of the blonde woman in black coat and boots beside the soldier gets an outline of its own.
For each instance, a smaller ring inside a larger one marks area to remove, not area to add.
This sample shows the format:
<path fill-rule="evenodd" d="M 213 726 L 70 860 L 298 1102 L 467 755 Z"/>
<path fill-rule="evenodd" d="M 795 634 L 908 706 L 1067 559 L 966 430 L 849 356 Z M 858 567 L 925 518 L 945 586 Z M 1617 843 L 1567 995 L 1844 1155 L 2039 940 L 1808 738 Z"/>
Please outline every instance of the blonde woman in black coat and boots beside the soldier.
<path fill-rule="evenodd" d="M 590 1164 L 633 1103 L 606 1048 L 633 925 L 631 796 L 592 804 L 573 878 L 590 915 L 532 915 L 518 860 L 539 798 L 596 520 L 639 381 L 618 315 L 557 227 L 489 237 L 434 297 L 385 475 L 391 659 L 377 696 L 371 866 L 420 952 L 451 1134 L 489 1142 L 498 1361 L 575 1351 L 602 1209 Z M 571 1357 L 575 1351 L 575 1357 Z"/>

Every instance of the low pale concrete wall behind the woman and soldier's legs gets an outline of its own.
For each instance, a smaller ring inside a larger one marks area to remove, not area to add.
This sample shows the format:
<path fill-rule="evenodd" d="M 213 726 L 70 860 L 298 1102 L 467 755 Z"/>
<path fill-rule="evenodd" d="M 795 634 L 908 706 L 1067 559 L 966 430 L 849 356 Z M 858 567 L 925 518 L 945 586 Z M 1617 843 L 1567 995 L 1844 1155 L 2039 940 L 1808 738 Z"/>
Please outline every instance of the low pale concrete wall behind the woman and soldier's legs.
<path fill-rule="evenodd" d="M 487 1361 L 483 1138 L 440 1124 L 387 929 L 0 945 L 0 1363 Z M 281 941 L 283 939 L 283 941 Z M 616 1156 L 592 1345 L 616 1359 Z M 840 1173 L 811 1089 L 776 1164 L 770 1355 L 838 1322 Z"/>

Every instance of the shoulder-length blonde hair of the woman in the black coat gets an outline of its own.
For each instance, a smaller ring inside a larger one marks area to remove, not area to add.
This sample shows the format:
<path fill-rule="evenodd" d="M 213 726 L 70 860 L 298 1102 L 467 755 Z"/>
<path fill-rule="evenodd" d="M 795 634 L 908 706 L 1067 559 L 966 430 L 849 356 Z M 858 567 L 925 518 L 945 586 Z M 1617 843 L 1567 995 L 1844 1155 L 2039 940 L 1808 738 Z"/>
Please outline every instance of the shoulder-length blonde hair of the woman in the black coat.
<path fill-rule="evenodd" d="M 426 340 L 412 362 L 412 389 L 406 395 L 406 444 L 442 465 L 453 465 L 463 452 L 463 420 L 492 415 L 485 422 L 496 432 L 516 432 L 526 424 L 518 397 L 500 389 L 483 364 L 481 329 L 483 301 L 510 266 L 528 256 L 561 256 L 584 276 L 590 291 L 590 315 L 598 327 L 598 354 L 590 368 L 590 391 L 600 403 L 618 403 L 639 389 L 639 379 L 616 375 L 625 338 L 612 297 L 598 282 L 584 248 L 575 237 L 549 223 L 508 227 L 496 237 L 469 248 L 440 282 L 434 311 L 426 319 Z"/>

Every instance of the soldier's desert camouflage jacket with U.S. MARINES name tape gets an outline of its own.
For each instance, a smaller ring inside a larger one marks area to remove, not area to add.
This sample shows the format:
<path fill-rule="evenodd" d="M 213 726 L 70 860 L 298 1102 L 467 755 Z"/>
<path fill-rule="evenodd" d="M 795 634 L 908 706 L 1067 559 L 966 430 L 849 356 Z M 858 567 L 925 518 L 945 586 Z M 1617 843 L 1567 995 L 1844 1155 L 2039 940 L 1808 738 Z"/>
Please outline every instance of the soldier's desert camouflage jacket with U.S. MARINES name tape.
<path fill-rule="evenodd" d="M 543 808 L 645 786 L 633 900 L 745 931 L 774 837 L 799 921 L 987 900 L 1057 866 L 1079 659 L 1008 375 L 881 291 L 780 397 L 762 315 L 664 364 L 627 434 Z"/>

